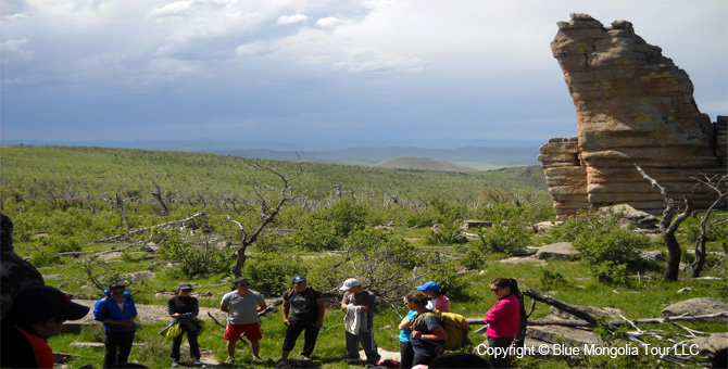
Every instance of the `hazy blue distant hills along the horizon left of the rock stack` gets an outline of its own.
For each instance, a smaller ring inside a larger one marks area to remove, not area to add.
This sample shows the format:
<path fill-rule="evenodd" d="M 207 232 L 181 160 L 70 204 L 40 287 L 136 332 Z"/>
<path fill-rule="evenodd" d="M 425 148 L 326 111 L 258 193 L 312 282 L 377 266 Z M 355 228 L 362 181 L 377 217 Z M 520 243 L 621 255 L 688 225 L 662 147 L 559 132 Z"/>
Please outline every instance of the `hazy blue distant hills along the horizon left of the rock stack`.
<path fill-rule="evenodd" d="M 9 141 L 2 144 L 26 144 L 26 145 L 81 145 L 104 147 L 123 149 L 164 150 L 164 151 L 189 151 L 209 152 L 221 155 L 235 155 L 242 157 L 255 157 L 276 161 L 297 161 L 340 163 L 362 166 L 382 166 L 407 169 L 432 169 L 435 167 L 449 167 L 451 170 L 460 166 L 456 171 L 466 171 L 468 168 L 476 170 L 489 170 L 512 166 L 540 165 L 538 161 L 539 147 L 543 142 L 536 141 L 493 141 L 487 147 L 462 147 L 457 149 L 436 149 L 415 147 L 388 147 L 388 148 L 311 148 L 293 147 L 285 144 L 264 144 L 240 141 L 223 140 L 136 140 L 136 141 Z M 490 145 L 492 144 L 492 145 Z M 260 148 L 275 148 L 260 149 Z M 406 158 L 404 158 L 406 157 Z M 415 160 L 418 158 L 418 160 Z M 429 158 L 431 161 L 424 161 Z M 439 162 L 447 162 L 448 165 Z M 417 166 L 415 164 L 419 163 Z"/>

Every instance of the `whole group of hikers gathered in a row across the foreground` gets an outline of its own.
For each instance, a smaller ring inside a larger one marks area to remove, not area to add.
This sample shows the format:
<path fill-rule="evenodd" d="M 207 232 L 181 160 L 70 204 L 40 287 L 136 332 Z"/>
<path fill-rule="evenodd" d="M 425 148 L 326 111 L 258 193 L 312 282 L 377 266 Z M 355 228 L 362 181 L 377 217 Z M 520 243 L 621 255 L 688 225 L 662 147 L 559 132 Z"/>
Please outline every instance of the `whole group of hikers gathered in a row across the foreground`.
<path fill-rule="evenodd" d="M 399 325 L 401 368 L 426 368 L 442 354 L 442 343 L 448 339 L 438 313 L 450 311 L 450 300 L 442 287 L 434 281 L 417 285 L 416 292 L 403 297 L 409 314 Z M 515 279 L 498 278 L 490 284 L 498 303 L 486 314 L 486 335 L 491 347 L 509 347 L 520 327 L 525 315 L 519 300 L 520 291 Z M 202 325 L 198 320 L 198 300 L 191 296 L 192 285 L 179 283 L 174 296 L 167 300 L 167 313 L 172 325 L 179 326 L 183 334 L 172 340 L 170 358 L 172 367 L 178 367 L 180 346 L 186 334 L 190 356 L 194 366 L 200 361 L 198 335 Z M 361 362 L 360 345 L 366 355 L 365 365 L 376 366 L 381 356 L 374 340 L 375 294 L 364 290 L 354 278 L 347 279 L 339 291 L 343 293 L 341 308 L 346 311 L 344 329 L 347 343 L 346 361 Z M 128 361 L 137 330 L 137 308 L 134 298 L 122 283 L 112 283 L 93 308 L 93 318 L 103 322 L 105 355 L 103 368 L 120 367 Z M 252 358 L 261 361 L 259 313 L 267 308 L 264 296 L 250 289 L 246 278 L 233 281 L 233 291 L 226 293 L 219 306 L 227 313 L 224 339 L 227 341 L 227 359 L 235 361 L 236 344 L 244 334 L 250 342 Z M 22 291 L 14 300 L 8 317 L 2 320 L 2 368 L 52 368 L 53 355 L 46 340 L 61 331 L 65 320 L 77 320 L 86 316 L 89 307 L 71 302 L 70 297 L 51 287 L 34 287 Z M 291 279 L 291 289 L 283 294 L 283 322 L 287 327 L 281 358 L 288 359 L 300 334 L 304 333 L 301 359 L 311 361 L 316 339 L 325 329 L 324 295 L 307 285 L 304 276 Z M 171 326 L 172 326 L 171 325 Z M 507 352 L 507 351 L 505 351 Z M 495 368 L 510 368 L 511 358 L 491 358 Z"/>

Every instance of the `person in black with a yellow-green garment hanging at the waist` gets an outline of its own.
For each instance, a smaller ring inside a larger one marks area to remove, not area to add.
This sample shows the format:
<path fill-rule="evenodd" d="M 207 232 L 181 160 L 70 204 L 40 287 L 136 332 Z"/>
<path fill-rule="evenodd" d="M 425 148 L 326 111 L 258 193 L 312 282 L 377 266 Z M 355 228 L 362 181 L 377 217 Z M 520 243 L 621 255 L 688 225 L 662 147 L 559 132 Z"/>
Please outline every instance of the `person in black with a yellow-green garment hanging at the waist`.
<path fill-rule="evenodd" d="M 167 300 L 167 314 L 172 318 L 172 325 L 178 322 L 183 331 L 183 333 L 172 339 L 172 349 L 170 351 L 172 367 L 179 366 L 179 347 L 185 333 L 187 333 L 187 342 L 189 342 L 192 365 L 196 367 L 202 366 L 202 362 L 200 362 L 200 345 L 197 342 L 198 334 L 201 331 L 200 322 L 197 319 L 197 316 L 200 315 L 200 305 L 197 297 L 190 295 L 191 293 L 192 284 L 179 283 L 175 295 Z"/>

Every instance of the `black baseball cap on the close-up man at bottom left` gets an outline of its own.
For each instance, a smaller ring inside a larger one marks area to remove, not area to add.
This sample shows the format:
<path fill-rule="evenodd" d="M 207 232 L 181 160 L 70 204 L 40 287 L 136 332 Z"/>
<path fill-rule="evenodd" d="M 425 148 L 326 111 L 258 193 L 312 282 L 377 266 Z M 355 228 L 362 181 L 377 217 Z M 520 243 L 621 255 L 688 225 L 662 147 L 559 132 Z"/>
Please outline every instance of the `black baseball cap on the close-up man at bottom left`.
<path fill-rule="evenodd" d="M 71 301 L 63 291 L 50 285 L 34 285 L 21 291 L 13 300 L 11 314 L 27 321 L 50 318 L 78 320 L 90 308 Z"/>

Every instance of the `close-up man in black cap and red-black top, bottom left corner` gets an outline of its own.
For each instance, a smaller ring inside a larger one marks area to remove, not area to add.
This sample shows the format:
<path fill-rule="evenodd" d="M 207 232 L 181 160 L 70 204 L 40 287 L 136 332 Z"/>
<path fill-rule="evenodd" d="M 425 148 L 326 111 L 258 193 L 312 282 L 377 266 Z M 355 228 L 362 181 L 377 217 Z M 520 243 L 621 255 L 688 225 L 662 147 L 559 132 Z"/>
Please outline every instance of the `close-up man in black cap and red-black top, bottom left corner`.
<path fill-rule="evenodd" d="M 48 285 L 17 293 L 0 321 L 0 368 L 53 368 L 49 338 L 59 334 L 66 320 L 88 314 L 87 306 L 71 302 L 67 294 Z"/>

